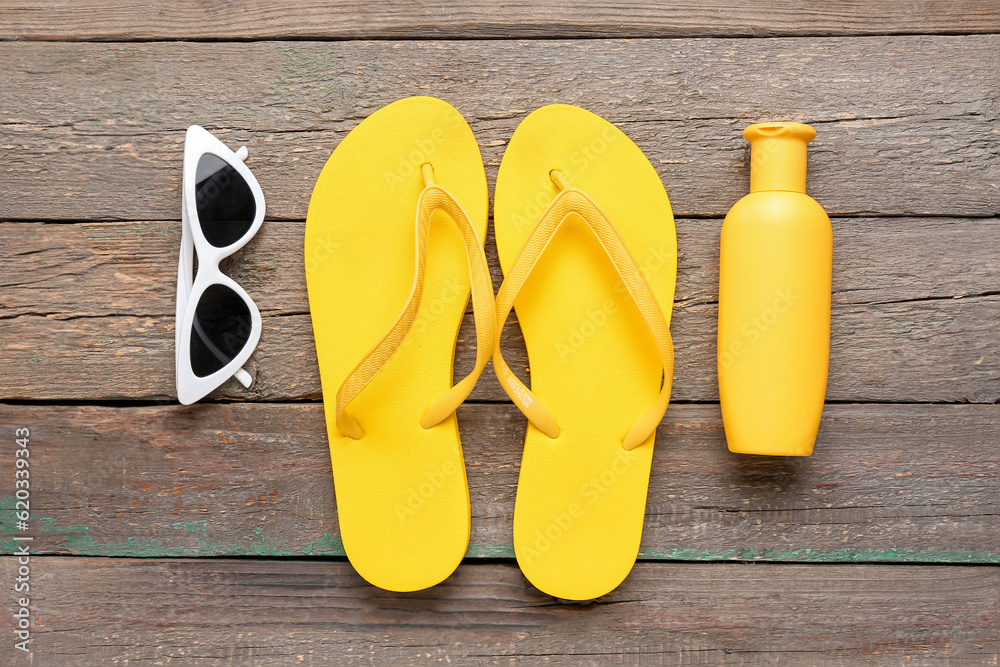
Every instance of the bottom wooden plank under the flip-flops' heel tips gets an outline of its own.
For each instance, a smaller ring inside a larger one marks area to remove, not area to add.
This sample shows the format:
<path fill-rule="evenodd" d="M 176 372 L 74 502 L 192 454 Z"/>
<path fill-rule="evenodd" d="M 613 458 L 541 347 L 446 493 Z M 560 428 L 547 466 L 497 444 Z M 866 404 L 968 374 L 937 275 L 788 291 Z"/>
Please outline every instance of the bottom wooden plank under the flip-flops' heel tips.
<path fill-rule="evenodd" d="M 4 581 L 16 568 L 0 559 Z M 543 595 L 509 563 L 462 565 L 409 594 L 376 589 L 343 562 L 42 558 L 32 568 L 38 660 L 12 650 L 12 667 L 994 665 L 1000 649 L 1000 570 L 989 567 L 643 563 L 588 604 Z"/>

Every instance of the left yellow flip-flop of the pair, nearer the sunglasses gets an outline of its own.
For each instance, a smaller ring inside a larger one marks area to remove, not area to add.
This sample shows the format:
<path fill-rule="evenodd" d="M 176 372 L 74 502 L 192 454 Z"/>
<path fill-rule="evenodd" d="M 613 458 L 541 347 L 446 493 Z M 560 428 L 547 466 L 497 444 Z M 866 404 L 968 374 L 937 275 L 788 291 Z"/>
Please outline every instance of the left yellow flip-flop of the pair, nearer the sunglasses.
<path fill-rule="evenodd" d="M 488 192 L 461 114 L 411 97 L 371 114 L 323 168 L 305 266 L 344 550 L 370 583 L 433 586 L 469 545 L 455 409 L 496 346 Z M 452 386 L 470 290 L 475 370 Z"/>

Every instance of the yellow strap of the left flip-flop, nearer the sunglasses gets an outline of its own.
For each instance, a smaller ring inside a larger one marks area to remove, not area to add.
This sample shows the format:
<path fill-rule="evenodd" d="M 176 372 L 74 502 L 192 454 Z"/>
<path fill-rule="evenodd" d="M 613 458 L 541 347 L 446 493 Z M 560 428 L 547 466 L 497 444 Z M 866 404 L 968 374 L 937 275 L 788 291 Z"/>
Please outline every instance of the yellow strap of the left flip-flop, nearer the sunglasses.
<path fill-rule="evenodd" d="M 476 380 L 486 367 L 496 347 L 497 323 L 493 304 L 493 281 L 483 244 L 475 225 L 458 200 L 448 190 L 434 182 L 434 171 L 430 164 L 421 167 L 424 189 L 417 199 L 416 211 L 416 252 L 413 269 L 413 284 L 403 309 L 389 330 L 371 350 L 358 362 L 337 391 L 337 429 L 355 440 L 364 435 L 364 429 L 347 412 L 347 407 L 378 375 L 403 344 L 413 327 L 420 309 L 420 298 L 424 289 L 427 246 L 430 236 L 431 216 L 435 211 L 444 211 L 462 233 L 465 253 L 468 259 L 469 281 L 472 285 L 472 309 L 476 324 L 476 367 L 461 381 L 437 398 L 420 420 L 423 428 L 431 428 L 451 415 L 469 396 Z"/>

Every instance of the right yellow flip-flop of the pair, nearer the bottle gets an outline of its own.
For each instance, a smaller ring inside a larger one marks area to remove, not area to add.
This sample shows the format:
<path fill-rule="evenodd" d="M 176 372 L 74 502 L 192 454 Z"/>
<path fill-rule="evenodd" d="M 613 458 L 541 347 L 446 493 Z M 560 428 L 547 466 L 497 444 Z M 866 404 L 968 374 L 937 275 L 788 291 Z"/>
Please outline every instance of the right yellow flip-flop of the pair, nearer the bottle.
<path fill-rule="evenodd" d="M 514 552 L 541 591 L 595 598 L 635 562 L 670 400 L 670 202 L 623 132 L 558 104 L 514 132 L 493 213 L 504 272 L 497 321 L 516 308 L 531 374 L 529 390 L 497 347 L 500 384 L 529 420 Z"/>

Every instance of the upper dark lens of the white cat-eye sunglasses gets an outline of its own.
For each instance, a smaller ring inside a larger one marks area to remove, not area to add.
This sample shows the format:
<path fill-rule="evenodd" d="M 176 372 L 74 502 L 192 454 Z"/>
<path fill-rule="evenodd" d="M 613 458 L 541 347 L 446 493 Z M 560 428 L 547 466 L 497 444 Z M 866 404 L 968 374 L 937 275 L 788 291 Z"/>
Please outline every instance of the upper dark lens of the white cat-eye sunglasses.
<path fill-rule="evenodd" d="M 194 196 L 201 231 L 216 248 L 236 243 L 253 224 L 257 207 L 250 186 L 218 156 L 205 153 L 198 160 Z"/>

